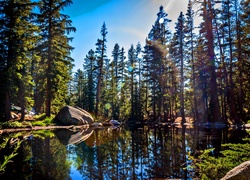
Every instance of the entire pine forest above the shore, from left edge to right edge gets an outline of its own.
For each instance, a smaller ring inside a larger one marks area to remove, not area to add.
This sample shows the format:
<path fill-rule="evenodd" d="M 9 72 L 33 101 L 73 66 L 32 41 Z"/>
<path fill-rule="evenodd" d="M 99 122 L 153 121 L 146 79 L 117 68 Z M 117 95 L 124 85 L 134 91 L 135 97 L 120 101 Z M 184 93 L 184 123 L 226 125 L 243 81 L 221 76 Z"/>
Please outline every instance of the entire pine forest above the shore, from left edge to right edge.
<path fill-rule="evenodd" d="M 172 33 L 161 6 L 145 45 L 115 44 L 107 56 L 103 23 L 96 49 L 72 72 L 72 0 L 0 1 L 0 112 L 11 105 L 46 116 L 79 106 L 96 117 L 194 123 L 244 123 L 250 118 L 248 0 L 189 0 Z M 196 27 L 194 22 L 200 19 Z M 97 35 L 98 36 L 98 35 Z M 81 37 L 79 37 L 81 38 Z M 126 52 L 127 51 L 127 52 Z"/>

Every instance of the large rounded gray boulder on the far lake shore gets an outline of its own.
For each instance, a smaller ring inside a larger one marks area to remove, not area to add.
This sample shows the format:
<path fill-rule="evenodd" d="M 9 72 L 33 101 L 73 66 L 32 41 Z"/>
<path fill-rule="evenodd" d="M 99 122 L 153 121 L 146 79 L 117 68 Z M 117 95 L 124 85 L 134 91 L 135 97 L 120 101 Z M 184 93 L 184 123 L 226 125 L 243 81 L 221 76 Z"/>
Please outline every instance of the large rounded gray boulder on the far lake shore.
<path fill-rule="evenodd" d="M 63 125 L 91 125 L 94 119 L 81 108 L 64 106 L 56 115 L 55 122 Z"/>

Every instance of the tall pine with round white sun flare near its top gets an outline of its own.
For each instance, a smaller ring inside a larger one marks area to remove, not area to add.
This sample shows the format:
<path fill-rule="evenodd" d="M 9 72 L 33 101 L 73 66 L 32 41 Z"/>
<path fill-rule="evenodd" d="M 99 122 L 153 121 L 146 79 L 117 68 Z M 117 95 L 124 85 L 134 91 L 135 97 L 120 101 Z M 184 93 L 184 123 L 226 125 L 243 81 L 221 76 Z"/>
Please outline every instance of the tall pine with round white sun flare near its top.
<path fill-rule="evenodd" d="M 150 96 L 152 106 L 153 118 L 161 117 L 164 113 L 165 118 L 168 116 L 168 86 L 167 80 L 169 72 L 171 71 L 171 62 L 167 59 L 167 40 L 170 39 L 171 33 L 168 29 L 167 15 L 164 12 L 163 6 L 160 7 L 157 13 L 157 20 L 155 21 L 153 28 L 151 29 L 148 40 L 146 41 L 147 58 L 145 59 L 147 64 L 148 81 L 150 85 Z M 170 71 L 169 71 L 170 70 Z M 167 113 L 165 113 L 167 112 Z"/>

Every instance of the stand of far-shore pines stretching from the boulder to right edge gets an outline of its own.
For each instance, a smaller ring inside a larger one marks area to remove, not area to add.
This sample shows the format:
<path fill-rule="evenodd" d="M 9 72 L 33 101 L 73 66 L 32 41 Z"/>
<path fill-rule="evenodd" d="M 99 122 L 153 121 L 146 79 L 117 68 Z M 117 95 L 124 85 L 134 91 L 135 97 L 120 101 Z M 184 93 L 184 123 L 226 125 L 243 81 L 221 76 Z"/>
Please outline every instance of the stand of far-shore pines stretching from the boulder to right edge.
<path fill-rule="evenodd" d="M 194 12 L 195 9 L 195 12 Z M 69 104 L 99 116 L 195 123 L 249 118 L 249 1 L 189 0 L 174 33 L 159 8 L 145 46 L 106 54 L 106 24 L 71 83 Z M 201 20 L 195 27 L 196 18 Z"/>

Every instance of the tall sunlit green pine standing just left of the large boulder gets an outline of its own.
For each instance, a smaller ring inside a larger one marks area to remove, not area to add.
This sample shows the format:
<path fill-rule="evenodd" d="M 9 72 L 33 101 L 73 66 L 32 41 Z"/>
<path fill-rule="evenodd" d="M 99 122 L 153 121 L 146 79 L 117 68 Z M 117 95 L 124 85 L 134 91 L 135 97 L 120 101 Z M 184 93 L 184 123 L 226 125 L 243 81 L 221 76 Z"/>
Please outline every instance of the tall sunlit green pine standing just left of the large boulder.
<path fill-rule="evenodd" d="M 45 82 L 39 83 L 46 86 L 43 90 L 46 116 L 51 115 L 52 104 L 54 111 L 65 104 L 67 82 L 70 80 L 73 66 L 73 59 L 70 57 L 73 48 L 69 45 L 72 38 L 67 35 L 76 29 L 71 26 L 69 16 L 62 14 L 61 11 L 71 3 L 71 0 L 41 0 L 39 3 L 38 23 L 42 40 L 38 45 L 38 51 L 41 56 L 39 68 L 43 71 L 39 71 L 38 79 L 45 78 Z"/>

